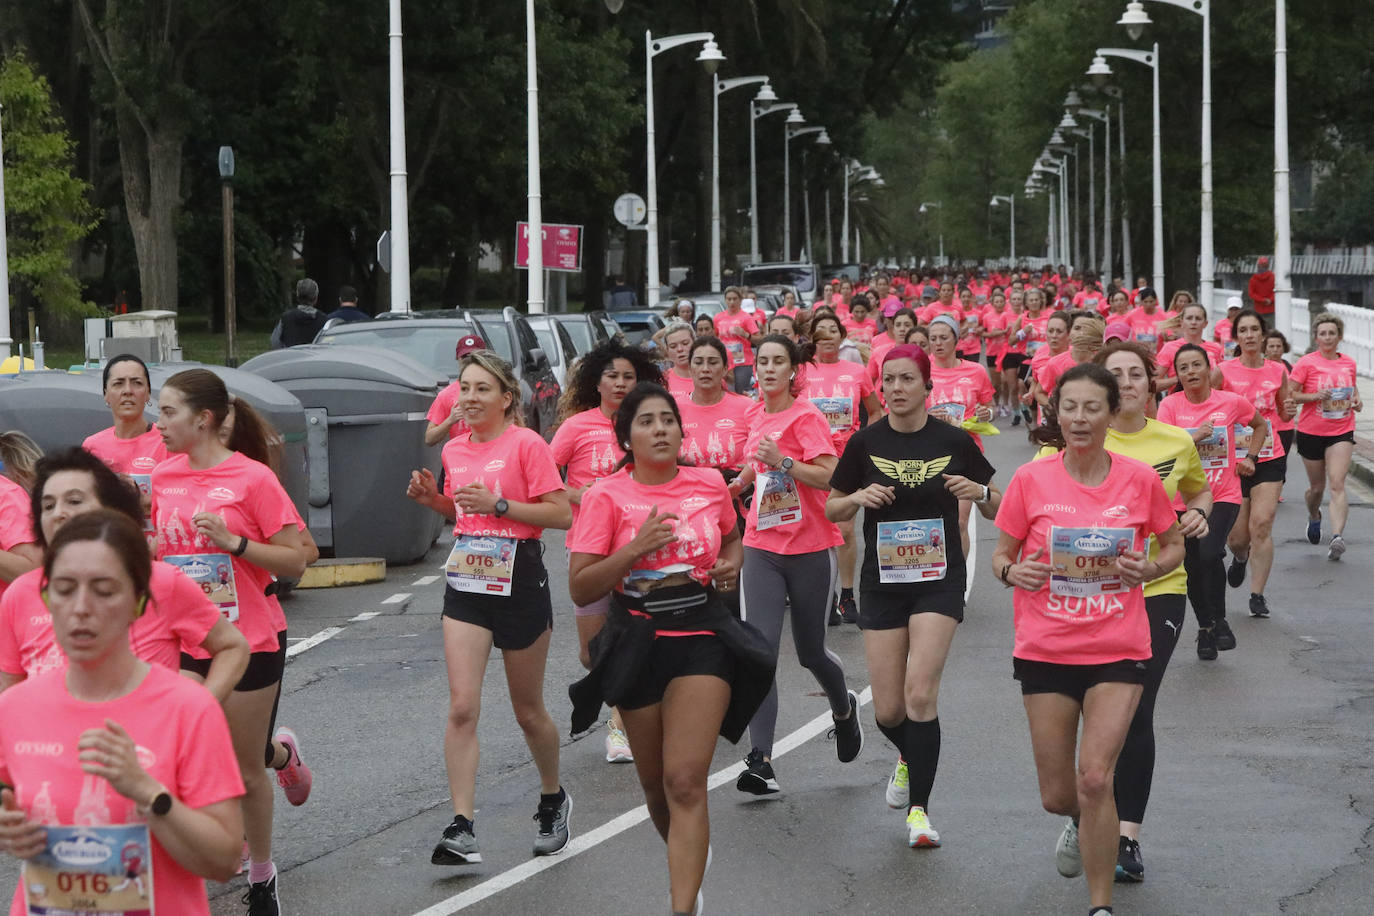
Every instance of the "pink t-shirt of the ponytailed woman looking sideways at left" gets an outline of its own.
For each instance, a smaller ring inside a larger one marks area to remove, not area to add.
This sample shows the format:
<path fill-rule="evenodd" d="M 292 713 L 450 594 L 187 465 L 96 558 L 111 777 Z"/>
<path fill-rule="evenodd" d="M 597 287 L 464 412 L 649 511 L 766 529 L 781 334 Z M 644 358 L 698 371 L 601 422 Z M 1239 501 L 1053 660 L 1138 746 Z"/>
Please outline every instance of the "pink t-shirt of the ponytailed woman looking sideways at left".
<path fill-rule="evenodd" d="M 232 556 L 196 531 L 196 512 L 224 516 L 231 534 L 265 544 L 282 529 L 298 527 L 300 516 L 272 470 L 234 452 L 212 468 L 195 470 L 185 455 L 173 455 L 153 471 L 153 526 L 158 534 L 158 559 L 218 555 L 229 558 L 238 597 L 239 632 L 254 652 L 275 652 L 286 615 L 275 595 L 264 595 L 272 574 L 243 558 Z M 202 650 L 190 652 L 209 658 Z"/>

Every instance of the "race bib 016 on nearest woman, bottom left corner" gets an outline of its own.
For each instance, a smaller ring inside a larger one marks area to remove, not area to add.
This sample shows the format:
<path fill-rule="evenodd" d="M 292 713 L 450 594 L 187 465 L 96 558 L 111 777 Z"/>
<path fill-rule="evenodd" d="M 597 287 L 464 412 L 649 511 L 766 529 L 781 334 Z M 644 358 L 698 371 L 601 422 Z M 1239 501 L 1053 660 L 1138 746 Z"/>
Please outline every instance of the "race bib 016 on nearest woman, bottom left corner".
<path fill-rule="evenodd" d="M 44 829 L 47 846 L 23 864 L 29 916 L 153 916 L 147 824 Z"/>

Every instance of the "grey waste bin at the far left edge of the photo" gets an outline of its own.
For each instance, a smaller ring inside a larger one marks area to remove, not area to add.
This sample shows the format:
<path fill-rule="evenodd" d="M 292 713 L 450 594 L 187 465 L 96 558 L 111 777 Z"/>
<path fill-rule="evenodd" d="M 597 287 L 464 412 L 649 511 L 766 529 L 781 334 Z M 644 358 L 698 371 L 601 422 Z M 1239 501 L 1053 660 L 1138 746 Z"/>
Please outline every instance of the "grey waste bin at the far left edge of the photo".
<path fill-rule="evenodd" d="M 99 372 L 0 376 L 0 430 L 21 430 L 44 452 L 81 445 L 113 423 L 100 393 Z"/>

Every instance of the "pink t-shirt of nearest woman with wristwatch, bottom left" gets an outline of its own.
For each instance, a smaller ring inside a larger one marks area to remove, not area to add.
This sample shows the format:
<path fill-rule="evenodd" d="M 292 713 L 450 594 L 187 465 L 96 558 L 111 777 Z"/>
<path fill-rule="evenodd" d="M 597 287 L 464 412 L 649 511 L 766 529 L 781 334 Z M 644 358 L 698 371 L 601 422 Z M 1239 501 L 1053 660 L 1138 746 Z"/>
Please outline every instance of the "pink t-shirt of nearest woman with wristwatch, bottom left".
<path fill-rule="evenodd" d="M 120 724 L 139 762 L 177 802 L 205 808 L 243 795 L 229 726 L 214 696 L 157 665 L 126 696 L 107 703 L 73 699 L 66 676 L 54 672 L 0 694 L 0 780 L 14 786 L 30 820 L 49 825 L 143 824 L 135 802 L 77 761 L 82 732 Z M 209 916 L 205 879 L 179 865 L 150 831 L 157 912 Z M 10 916 L 25 916 L 23 882 Z"/>

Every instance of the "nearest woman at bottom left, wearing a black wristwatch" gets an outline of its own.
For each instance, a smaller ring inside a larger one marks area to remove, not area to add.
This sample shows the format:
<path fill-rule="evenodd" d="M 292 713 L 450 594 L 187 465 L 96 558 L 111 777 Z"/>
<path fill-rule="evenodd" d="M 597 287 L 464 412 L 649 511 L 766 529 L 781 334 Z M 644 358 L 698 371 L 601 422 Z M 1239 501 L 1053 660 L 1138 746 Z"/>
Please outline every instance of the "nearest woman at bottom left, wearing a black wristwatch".
<path fill-rule="evenodd" d="M 140 879 L 104 894 L 103 912 L 209 916 L 205 879 L 238 867 L 243 783 L 224 713 L 129 645 L 150 575 L 142 525 L 118 512 L 73 519 L 48 548 L 44 592 L 69 667 L 0 695 L 0 847 L 25 868 L 14 913 L 89 906 L 63 887 L 98 875 L 60 847 L 107 847 L 120 875 Z"/>

